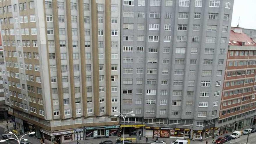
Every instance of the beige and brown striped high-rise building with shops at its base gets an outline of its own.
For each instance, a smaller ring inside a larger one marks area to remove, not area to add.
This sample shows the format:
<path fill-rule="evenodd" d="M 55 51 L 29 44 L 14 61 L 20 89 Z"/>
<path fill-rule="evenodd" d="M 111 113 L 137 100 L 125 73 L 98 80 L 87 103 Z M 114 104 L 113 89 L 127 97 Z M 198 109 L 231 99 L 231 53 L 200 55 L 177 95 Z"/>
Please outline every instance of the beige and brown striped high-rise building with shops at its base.
<path fill-rule="evenodd" d="M 1 1 L 4 95 L 21 132 L 59 143 L 118 134 L 120 10 L 119 0 Z"/>

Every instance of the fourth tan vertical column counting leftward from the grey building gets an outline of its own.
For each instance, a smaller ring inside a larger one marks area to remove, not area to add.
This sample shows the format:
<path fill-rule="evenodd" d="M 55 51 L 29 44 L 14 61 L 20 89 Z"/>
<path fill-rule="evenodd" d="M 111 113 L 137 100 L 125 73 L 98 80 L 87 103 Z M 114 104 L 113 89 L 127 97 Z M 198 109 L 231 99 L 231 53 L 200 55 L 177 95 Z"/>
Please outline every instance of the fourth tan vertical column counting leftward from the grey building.
<path fill-rule="evenodd" d="M 71 11 L 70 0 L 66 0 L 66 13 L 67 13 L 67 45 L 68 45 L 68 61 L 69 61 L 69 76 L 70 76 L 70 95 L 72 106 L 72 117 L 76 117 L 75 105 L 75 87 L 74 87 L 74 63 L 73 63 L 73 45 L 72 45 L 72 26 L 71 26 Z"/>

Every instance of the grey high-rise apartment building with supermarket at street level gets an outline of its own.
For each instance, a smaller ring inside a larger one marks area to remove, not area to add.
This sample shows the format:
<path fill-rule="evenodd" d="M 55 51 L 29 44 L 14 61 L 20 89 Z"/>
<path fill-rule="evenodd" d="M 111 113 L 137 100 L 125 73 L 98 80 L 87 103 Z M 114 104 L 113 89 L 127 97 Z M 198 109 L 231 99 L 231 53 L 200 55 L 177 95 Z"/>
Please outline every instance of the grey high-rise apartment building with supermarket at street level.
<path fill-rule="evenodd" d="M 126 134 L 199 139 L 219 117 L 233 0 L 122 0 Z"/>

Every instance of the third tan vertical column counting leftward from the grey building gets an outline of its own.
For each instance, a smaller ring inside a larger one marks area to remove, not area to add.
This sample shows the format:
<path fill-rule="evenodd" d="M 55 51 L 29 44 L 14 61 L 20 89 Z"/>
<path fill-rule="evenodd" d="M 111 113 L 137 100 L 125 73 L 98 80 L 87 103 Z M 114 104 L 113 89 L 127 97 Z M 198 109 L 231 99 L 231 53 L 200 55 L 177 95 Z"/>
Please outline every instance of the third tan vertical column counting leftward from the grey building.
<path fill-rule="evenodd" d="M 83 1 L 78 1 L 79 13 L 79 36 L 80 36 L 80 61 L 82 79 L 82 104 L 83 116 L 87 116 L 87 93 L 86 93 L 86 69 L 85 69 L 85 47 L 84 47 L 84 20 L 83 20 Z"/>

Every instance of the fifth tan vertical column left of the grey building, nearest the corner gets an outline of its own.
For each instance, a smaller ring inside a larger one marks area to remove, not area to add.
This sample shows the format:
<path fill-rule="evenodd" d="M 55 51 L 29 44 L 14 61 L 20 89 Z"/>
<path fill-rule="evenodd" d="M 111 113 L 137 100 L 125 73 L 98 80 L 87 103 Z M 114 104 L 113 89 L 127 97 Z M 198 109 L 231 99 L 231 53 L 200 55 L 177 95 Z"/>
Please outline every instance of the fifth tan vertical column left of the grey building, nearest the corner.
<path fill-rule="evenodd" d="M 58 21 L 57 1 L 52 1 L 52 6 L 53 6 L 54 47 L 55 47 L 55 56 L 56 56 L 56 70 L 57 70 L 57 83 L 58 83 L 60 117 L 61 117 L 61 119 L 64 119 L 63 92 L 62 92 L 62 73 L 61 73 L 61 50 L 60 50 L 60 36 L 59 36 L 59 21 Z"/>

